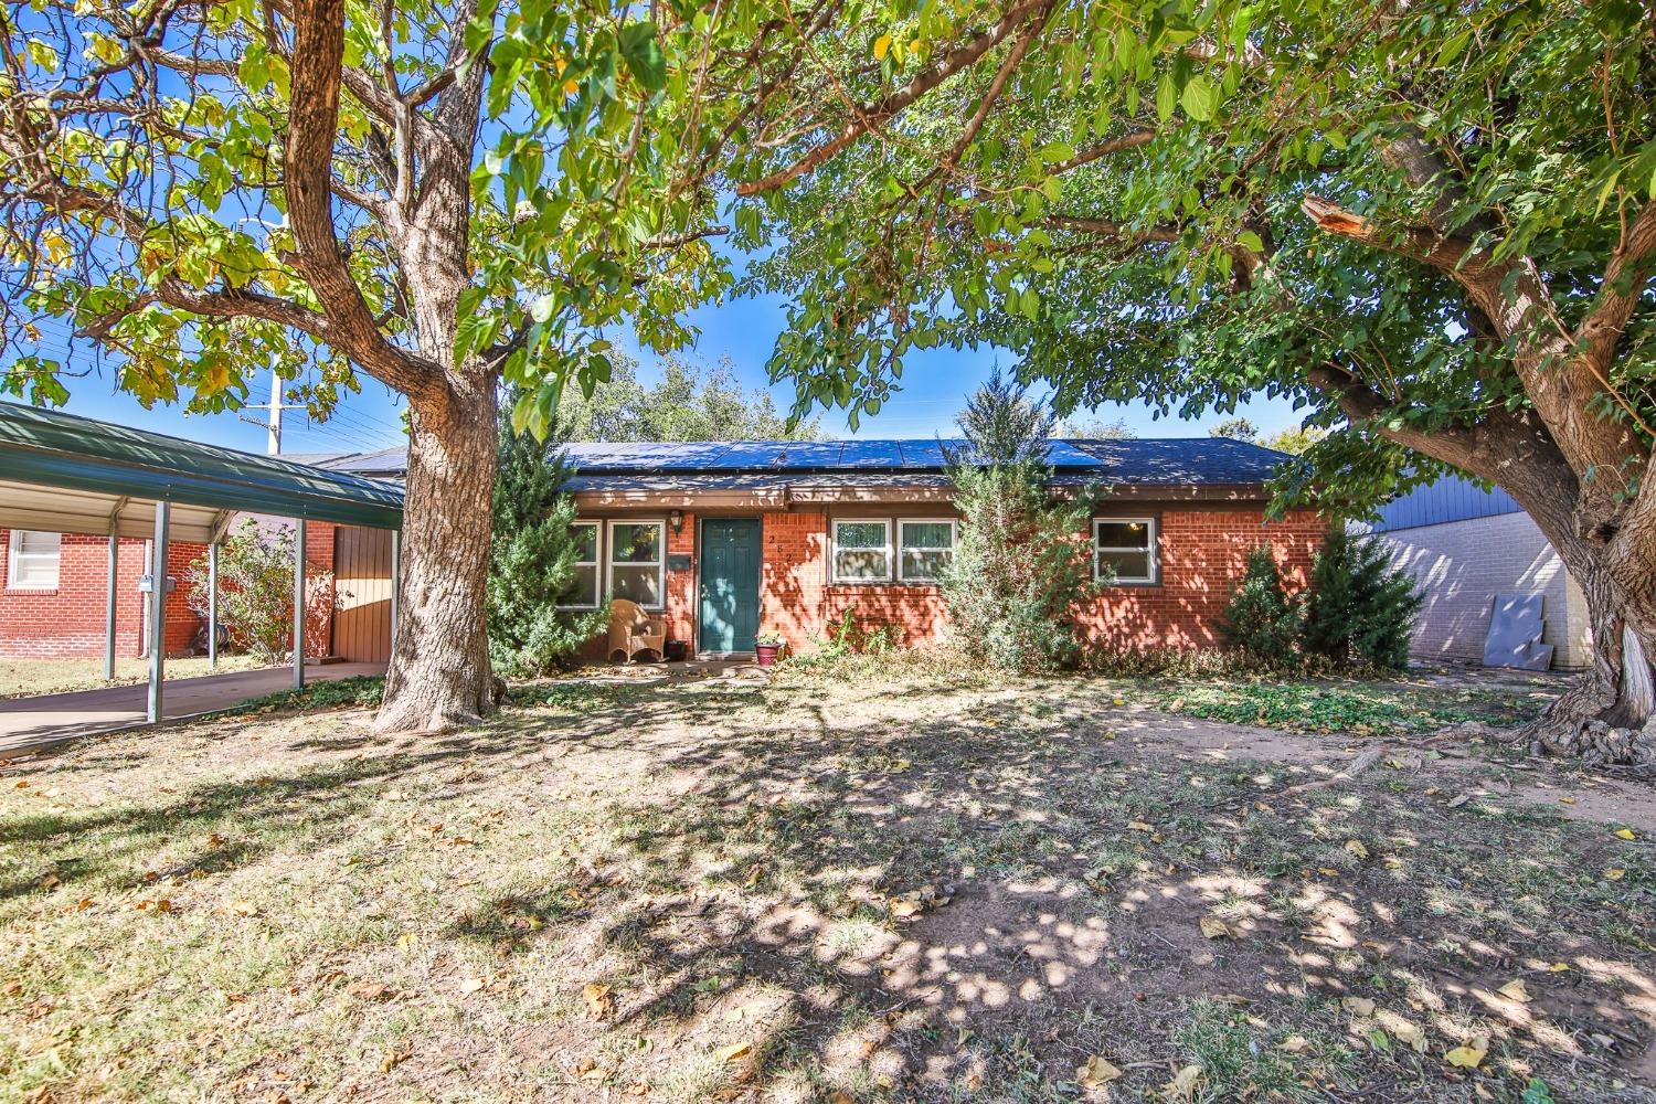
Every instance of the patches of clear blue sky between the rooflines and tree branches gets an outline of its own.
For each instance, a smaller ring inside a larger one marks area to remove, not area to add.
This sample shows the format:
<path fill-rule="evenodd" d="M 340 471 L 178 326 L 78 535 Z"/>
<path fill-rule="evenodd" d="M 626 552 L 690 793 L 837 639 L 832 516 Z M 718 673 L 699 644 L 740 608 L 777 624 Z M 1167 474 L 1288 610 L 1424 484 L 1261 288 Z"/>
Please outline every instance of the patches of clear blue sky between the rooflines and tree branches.
<path fill-rule="evenodd" d="M 696 311 L 692 321 L 700 329 L 700 338 L 689 353 L 691 358 L 710 364 L 729 356 L 744 384 L 767 386 L 763 366 L 785 321 L 780 300 L 750 298 L 710 305 Z M 61 349 L 65 338 L 66 331 L 48 333 L 46 346 Z M 631 341 L 618 344 L 633 346 Z M 1015 358 L 997 349 L 975 353 L 932 349 L 911 356 L 903 374 L 903 391 L 876 417 L 864 419 L 854 435 L 934 437 L 951 434 L 956 410 L 960 409 L 965 396 L 989 377 L 997 359 L 1002 366 L 1010 367 Z M 652 358 L 641 356 L 639 361 L 641 372 L 646 377 L 651 376 Z M 70 364 L 71 369 L 93 367 L 93 356 L 84 343 L 70 358 Z M 154 410 L 144 410 L 132 397 L 118 391 L 114 374 L 108 367 L 65 382 L 71 396 L 68 409 L 75 414 L 233 449 L 265 450 L 262 410 L 245 412 L 258 424 L 242 420 L 233 414 L 185 415 L 181 407 L 157 406 Z M 772 387 L 772 394 L 782 409 L 793 402 L 790 386 Z M 263 402 L 267 399 L 265 386 L 257 386 L 253 401 Z M 363 377 L 363 392 L 341 402 L 339 410 L 328 424 L 308 424 L 301 412 L 288 412 L 285 415 L 283 452 L 359 452 L 401 444 L 399 410 L 401 401 L 396 394 L 383 384 Z M 1207 427 L 1225 417 L 1207 415 L 1187 422 L 1156 420 L 1151 410 L 1143 406 L 1113 406 L 1100 409 L 1096 414 L 1106 420 L 1124 419 L 1141 437 L 1202 437 L 1207 434 Z M 1298 424 L 1298 415 L 1285 401 L 1260 397 L 1240 409 L 1239 414 L 1250 417 L 1267 434 Z M 825 412 L 821 429 L 831 437 L 853 435 L 840 410 Z"/>

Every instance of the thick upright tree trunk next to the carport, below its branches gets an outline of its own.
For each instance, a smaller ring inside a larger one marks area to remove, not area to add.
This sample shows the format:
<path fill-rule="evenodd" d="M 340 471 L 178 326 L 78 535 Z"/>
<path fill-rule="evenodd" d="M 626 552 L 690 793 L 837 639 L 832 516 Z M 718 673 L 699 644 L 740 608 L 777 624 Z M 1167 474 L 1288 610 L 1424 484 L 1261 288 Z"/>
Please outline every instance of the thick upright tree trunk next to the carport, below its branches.
<path fill-rule="evenodd" d="M 445 402 L 411 404 L 401 624 L 379 732 L 440 732 L 498 703 L 484 622 L 497 409 L 492 372 L 449 377 Z"/>

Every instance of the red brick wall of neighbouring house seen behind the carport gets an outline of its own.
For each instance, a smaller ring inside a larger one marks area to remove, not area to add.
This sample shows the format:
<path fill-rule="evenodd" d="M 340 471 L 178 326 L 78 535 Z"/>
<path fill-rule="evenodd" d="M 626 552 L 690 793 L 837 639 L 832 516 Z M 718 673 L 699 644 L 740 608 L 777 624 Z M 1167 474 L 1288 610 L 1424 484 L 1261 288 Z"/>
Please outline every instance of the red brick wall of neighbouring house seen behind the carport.
<path fill-rule="evenodd" d="M 0 548 L 10 548 L 10 531 L 0 530 Z M 184 569 L 205 554 L 204 545 L 172 541 L 167 573 L 179 589 L 167 596 L 167 654 L 189 649 L 200 627 L 184 593 Z M 123 538 L 116 553 L 116 655 L 144 654 L 144 541 Z M 10 579 L 10 573 L 5 576 Z M 65 533 L 58 554 L 58 586 L 50 591 L 0 591 L 0 655 L 28 659 L 91 659 L 104 654 L 104 609 L 109 586 L 109 538 Z"/>

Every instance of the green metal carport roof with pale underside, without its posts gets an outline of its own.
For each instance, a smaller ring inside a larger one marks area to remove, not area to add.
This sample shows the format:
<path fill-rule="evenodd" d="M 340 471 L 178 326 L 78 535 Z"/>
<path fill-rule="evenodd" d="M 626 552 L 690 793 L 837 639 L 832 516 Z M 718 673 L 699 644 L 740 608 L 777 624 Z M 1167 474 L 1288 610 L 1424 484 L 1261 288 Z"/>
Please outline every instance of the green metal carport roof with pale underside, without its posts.
<path fill-rule="evenodd" d="M 0 402 L 0 526 L 207 543 L 237 511 L 402 526 L 402 490 L 305 463 Z"/>

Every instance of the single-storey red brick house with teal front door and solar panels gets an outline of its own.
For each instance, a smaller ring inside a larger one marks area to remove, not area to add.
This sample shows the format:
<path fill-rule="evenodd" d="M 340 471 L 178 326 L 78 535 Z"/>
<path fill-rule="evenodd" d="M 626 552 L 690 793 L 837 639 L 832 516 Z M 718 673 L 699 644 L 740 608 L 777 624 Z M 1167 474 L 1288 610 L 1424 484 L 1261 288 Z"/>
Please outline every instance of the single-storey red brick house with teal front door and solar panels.
<path fill-rule="evenodd" d="M 588 533 L 575 607 L 631 598 L 702 655 L 752 650 L 755 631 L 811 649 L 846 612 L 942 636 L 936 578 L 957 515 L 936 440 L 571 445 Z M 1086 540 L 1116 581 L 1083 611 L 1110 649 L 1219 644 L 1247 551 L 1275 546 L 1305 581 L 1325 523 L 1265 521 L 1282 454 L 1229 439 L 1055 440 L 1055 490 L 1105 492 Z"/>

